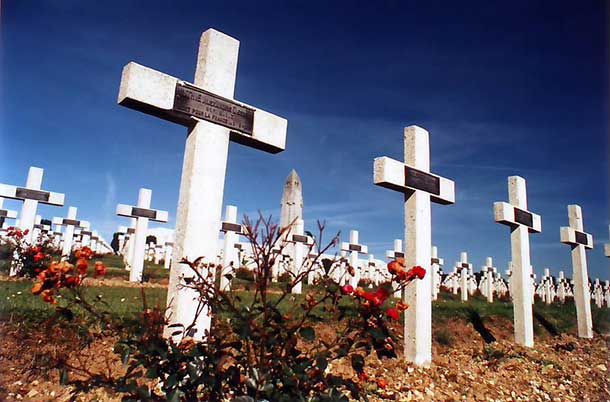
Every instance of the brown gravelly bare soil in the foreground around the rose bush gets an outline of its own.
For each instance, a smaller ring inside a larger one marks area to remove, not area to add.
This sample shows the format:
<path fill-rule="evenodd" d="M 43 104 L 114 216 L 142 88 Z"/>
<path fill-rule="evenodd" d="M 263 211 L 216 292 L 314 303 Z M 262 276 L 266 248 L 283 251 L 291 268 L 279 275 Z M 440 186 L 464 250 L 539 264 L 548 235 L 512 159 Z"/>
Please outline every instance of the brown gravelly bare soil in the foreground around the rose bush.
<path fill-rule="evenodd" d="M 371 401 L 608 401 L 610 400 L 608 336 L 592 340 L 573 334 L 537 334 L 534 348 L 516 346 L 512 322 L 503 317 L 486 321 L 497 339 L 486 344 L 473 326 L 453 319 L 433 328 L 433 364 L 421 368 L 397 359 L 367 358 L 364 388 Z M 319 328 L 331 331 L 332 328 Z M 70 388 L 59 384 L 58 370 L 42 368 L 49 356 L 61 356 L 73 337 L 55 329 L 24 331 L 17 323 L 0 322 L 0 400 L 68 401 Z M 439 334 L 444 334 L 440 336 Z M 447 334 L 450 334 L 447 336 Z M 441 343 L 442 342 L 442 343 Z M 68 362 L 90 373 L 121 374 L 112 352 L 114 340 L 101 337 L 90 348 L 71 345 Z M 330 369 L 346 376 L 349 364 L 335 362 Z M 71 372 L 70 378 L 79 378 Z M 384 379 L 385 389 L 377 385 Z M 76 401 L 120 401 L 121 396 L 97 389 Z"/>

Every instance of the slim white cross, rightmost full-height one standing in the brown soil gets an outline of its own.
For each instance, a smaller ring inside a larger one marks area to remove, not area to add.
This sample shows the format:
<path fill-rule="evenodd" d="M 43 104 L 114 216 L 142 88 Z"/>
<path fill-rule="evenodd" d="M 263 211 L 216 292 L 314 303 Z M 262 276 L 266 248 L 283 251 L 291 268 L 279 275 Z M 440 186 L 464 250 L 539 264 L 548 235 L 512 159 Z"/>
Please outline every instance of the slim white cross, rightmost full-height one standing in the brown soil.
<path fill-rule="evenodd" d="M 593 337 L 591 320 L 591 293 L 589 291 L 589 274 L 587 272 L 586 249 L 593 248 L 593 236 L 584 232 L 582 209 L 578 205 L 568 205 L 570 226 L 560 230 L 561 242 L 572 247 L 572 279 L 574 280 L 574 303 L 578 321 L 578 336 Z"/>

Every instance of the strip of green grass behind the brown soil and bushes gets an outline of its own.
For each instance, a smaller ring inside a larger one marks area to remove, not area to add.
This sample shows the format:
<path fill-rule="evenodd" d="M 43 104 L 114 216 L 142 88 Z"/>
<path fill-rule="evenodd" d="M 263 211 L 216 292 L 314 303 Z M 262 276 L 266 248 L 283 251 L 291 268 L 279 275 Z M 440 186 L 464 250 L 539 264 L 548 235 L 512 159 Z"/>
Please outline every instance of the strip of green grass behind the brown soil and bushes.
<path fill-rule="evenodd" d="M 167 271 L 162 267 L 147 268 L 151 276 L 161 278 L 167 276 Z M 122 268 L 109 268 L 108 274 L 111 277 L 128 277 L 128 272 Z M 235 281 L 237 286 L 248 286 L 246 281 Z M 279 290 L 282 284 L 274 284 L 274 287 Z M 55 306 L 44 303 L 40 297 L 34 297 L 30 294 L 31 282 L 0 282 L 0 319 L 11 319 L 11 317 L 30 317 L 33 319 L 44 318 L 53 314 Z M 247 289 L 247 288 L 246 288 Z M 315 291 L 315 288 L 305 287 L 305 291 Z M 165 287 L 144 288 L 146 301 L 148 306 L 159 305 L 165 306 L 167 290 Z M 121 286 L 92 286 L 87 288 L 89 295 L 88 300 L 97 300 L 103 310 L 109 312 L 113 316 L 120 319 L 132 319 L 142 311 L 142 296 L 139 287 L 121 287 Z M 243 304 L 250 304 L 253 298 L 252 290 L 243 290 L 238 292 Z M 100 296 L 100 297 L 98 297 Z M 271 300 L 277 300 L 279 292 L 270 295 Z M 294 295 L 287 297 L 279 306 L 280 311 L 294 311 L 294 306 L 301 303 L 303 296 Z M 390 300 L 392 302 L 392 300 Z M 349 302 L 345 302 L 345 306 L 349 307 Z M 487 301 L 480 295 L 470 297 L 467 303 L 462 303 L 459 296 L 441 292 L 439 300 L 432 305 L 432 316 L 436 324 L 442 327 L 442 324 L 452 320 L 461 319 L 470 322 L 472 312 L 480 315 L 483 322 L 487 322 L 491 317 L 504 317 L 512 320 L 513 308 L 511 303 L 496 300 L 494 303 Z M 591 306 L 594 328 L 598 332 L 608 333 L 610 328 L 610 310 L 607 308 L 599 309 L 595 305 Z M 296 309 L 300 310 L 300 309 Z M 576 326 L 576 309 L 572 303 L 566 305 L 544 303 L 536 303 L 534 312 L 543 317 L 543 319 L 552 325 L 559 333 L 571 332 L 575 333 Z M 328 318 L 327 313 L 316 311 L 321 319 Z M 548 330 L 541 325 L 538 319 L 534 320 L 535 331 L 537 334 L 547 333 Z M 493 332 L 493 331 L 492 331 Z M 458 334 L 437 334 L 443 340 L 450 342 L 451 335 Z"/>

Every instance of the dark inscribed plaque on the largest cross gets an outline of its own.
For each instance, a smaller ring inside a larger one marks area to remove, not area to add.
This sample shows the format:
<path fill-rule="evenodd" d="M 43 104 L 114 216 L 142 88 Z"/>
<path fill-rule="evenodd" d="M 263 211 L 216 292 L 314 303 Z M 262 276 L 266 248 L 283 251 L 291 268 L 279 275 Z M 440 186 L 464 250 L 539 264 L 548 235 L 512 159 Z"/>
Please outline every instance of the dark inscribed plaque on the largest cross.
<path fill-rule="evenodd" d="M 182 83 L 176 84 L 174 111 L 252 135 L 254 109 L 201 88 Z"/>

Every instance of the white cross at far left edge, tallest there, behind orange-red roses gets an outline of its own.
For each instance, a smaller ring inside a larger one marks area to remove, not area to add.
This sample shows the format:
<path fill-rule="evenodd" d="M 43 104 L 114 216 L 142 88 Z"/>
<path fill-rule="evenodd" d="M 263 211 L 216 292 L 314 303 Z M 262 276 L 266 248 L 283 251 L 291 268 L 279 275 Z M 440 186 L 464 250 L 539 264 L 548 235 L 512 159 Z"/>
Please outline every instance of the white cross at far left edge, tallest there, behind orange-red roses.
<path fill-rule="evenodd" d="M 64 205 L 64 194 L 40 189 L 43 174 L 43 169 L 32 166 L 28 172 L 25 187 L 0 183 L 0 197 L 23 201 L 21 214 L 19 216 L 20 229 L 29 231 L 28 234 L 24 236 L 25 241 L 28 243 L 32 243 L 34 220 L 36 219 L 38 203 L 40 202 L 59 207 Z"/>

